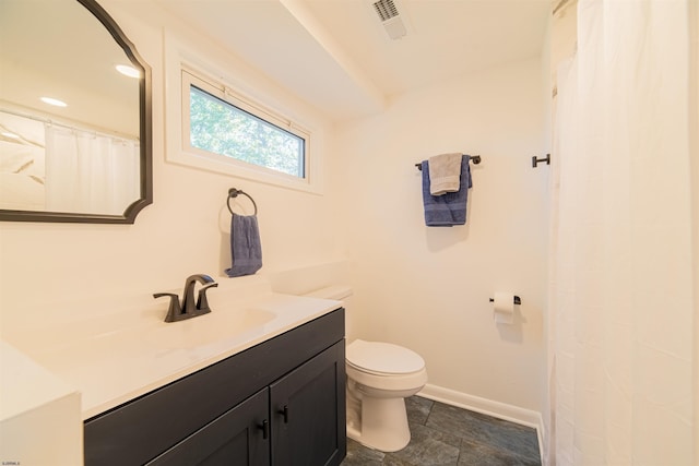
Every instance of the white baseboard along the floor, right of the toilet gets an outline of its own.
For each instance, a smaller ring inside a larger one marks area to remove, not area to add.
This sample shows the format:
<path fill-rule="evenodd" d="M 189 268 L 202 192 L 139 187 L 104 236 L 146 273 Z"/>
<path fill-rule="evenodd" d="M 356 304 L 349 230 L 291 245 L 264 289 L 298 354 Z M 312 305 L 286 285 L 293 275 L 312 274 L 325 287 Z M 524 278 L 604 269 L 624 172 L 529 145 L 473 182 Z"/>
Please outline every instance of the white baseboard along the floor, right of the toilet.
<path fill-rule="evenodd" d="M 538 438 L 538 453 L 542 461 L 544 459 L 544 442 L 542 438 L 544 432 L 544 419 L 541 413 L 431 384 L 425 385 L 417 395 L 435 402 L 457 406 L 459 408 L 469 409 L 536 429 L 536 435 Z"/>

